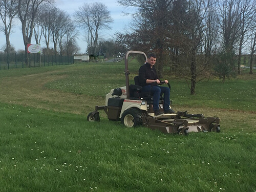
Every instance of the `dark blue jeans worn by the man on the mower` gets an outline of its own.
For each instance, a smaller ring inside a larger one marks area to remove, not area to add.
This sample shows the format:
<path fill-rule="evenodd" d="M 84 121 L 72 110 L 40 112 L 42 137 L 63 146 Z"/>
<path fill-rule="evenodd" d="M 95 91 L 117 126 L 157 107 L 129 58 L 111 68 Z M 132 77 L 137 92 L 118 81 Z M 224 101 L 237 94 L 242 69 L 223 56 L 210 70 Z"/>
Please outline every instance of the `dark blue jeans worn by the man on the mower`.
<path fill-rule="evenodd" d="M 161 87 L 161 86 L 144 86 L 141 89 L 141 92 L 150 92 L 151 95 L 153 95 L 153 110 L 156 111 L 159 109 L 159 99 L 160 95 L 163 95 L 164 99 L 164 104 L 163 104 L 163 109 L 164 111 L 169 110 L 169 105 L 170 105 L 170 89 L 167 87 Z"/>

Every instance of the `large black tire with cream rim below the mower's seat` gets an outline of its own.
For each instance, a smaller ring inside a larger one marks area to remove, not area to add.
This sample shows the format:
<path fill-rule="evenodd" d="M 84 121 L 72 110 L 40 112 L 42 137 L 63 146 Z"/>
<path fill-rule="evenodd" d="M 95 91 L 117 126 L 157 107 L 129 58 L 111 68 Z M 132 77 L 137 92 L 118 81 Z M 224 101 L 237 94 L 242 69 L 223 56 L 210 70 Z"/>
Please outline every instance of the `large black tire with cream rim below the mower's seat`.
<path fill-rule="evenodd" d="M 121 123 L 127 127 L 136 127 L 142 125 L 141 111 L 131 108 L 123 112 Z"/>

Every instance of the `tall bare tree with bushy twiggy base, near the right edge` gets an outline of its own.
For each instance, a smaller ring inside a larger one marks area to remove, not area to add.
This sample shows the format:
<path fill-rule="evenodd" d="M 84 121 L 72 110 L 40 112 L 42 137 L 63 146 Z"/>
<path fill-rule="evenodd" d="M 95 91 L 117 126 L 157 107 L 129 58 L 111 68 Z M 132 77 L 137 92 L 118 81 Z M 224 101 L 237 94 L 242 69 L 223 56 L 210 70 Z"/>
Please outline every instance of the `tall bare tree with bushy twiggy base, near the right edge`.
<path fill-rule="evenodd" d="M 222 51 L 216 71 L 222 82 L 226 77 L 236 76 L 236 47 L 241 37 L 241 1 L 225 0 L 217 4 Z"/>

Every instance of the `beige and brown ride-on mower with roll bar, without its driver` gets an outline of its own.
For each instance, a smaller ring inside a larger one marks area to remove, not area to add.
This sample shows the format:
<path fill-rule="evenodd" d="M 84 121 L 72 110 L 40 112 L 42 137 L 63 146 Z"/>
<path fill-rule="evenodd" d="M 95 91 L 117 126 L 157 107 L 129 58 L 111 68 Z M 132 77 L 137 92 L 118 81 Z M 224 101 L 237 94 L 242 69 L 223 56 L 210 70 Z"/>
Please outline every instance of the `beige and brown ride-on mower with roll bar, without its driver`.
<path fill-rule="evenodd" d="M 187 135 L 189 132 L 220 132 L 220 119 L 218 117 L 204 117 L 203 114 L 188 114 L 187 112 L 155 116 L 153 97 L 150 93 L 141 92 L 138 76 L 134 78 L 135 84 L 129 83 L 128 57 L 130 53 L 142 54 L 147 60 L 146 54 L 141 51 L 126 52 L 124 72 L 126 86 L 112 89 L 110 93 L 106 94 L 105 105 L 96 105 L 95 111 L 87 116 L 88 121 L 99 121 L 99 110 L 104 110 L 109 120 L 121 120 L 121 123 L 127 127 L 143 125 L 163 133 L 182 135 Z M 161 98 L 159 109 L 163 111 L 163 99 Z"/>

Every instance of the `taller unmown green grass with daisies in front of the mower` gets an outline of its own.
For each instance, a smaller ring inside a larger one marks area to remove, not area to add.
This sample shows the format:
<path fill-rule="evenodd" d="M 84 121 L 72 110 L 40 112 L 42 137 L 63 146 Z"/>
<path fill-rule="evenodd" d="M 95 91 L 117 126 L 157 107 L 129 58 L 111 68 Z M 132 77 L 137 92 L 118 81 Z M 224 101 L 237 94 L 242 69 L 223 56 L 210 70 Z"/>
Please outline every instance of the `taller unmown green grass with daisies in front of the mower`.
<path fill-rule="evenodd" d="M 164 135 L 1 104 L 3 191 L 253 191 L 255 135 Z"/>

